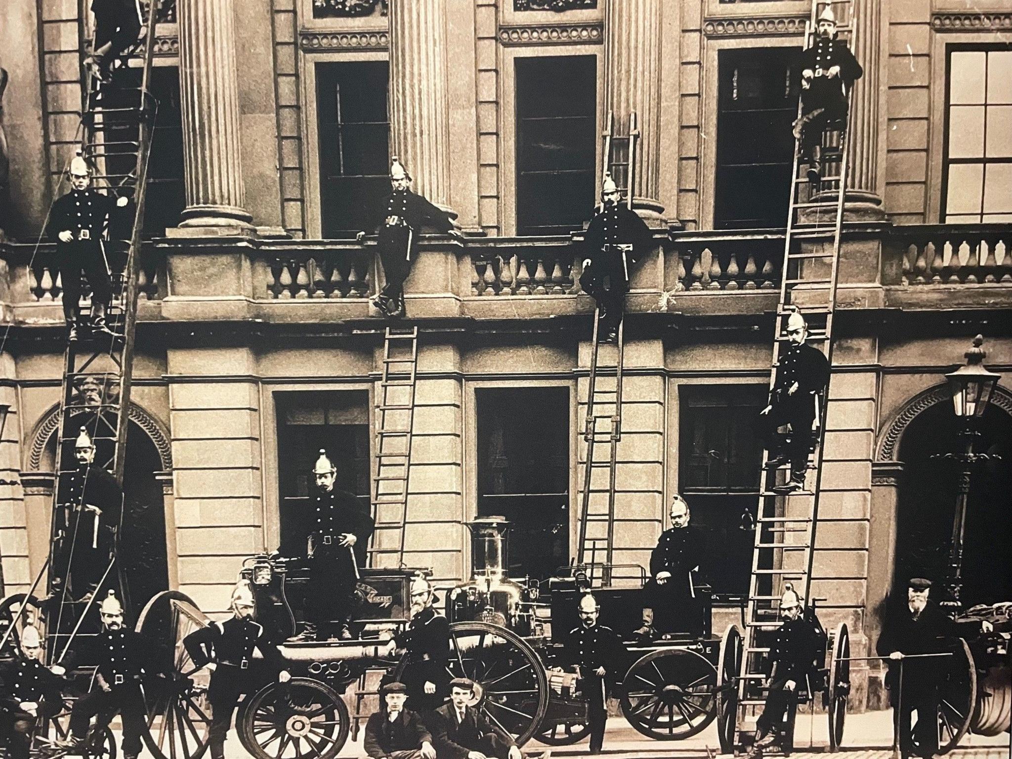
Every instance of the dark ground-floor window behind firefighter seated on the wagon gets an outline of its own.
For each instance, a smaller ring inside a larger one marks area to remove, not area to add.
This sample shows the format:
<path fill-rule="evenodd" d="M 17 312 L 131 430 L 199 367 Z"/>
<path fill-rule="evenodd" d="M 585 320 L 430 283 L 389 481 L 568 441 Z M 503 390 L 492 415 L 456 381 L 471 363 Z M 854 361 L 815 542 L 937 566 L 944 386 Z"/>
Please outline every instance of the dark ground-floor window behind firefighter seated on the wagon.
<path fill-rule="evenodd" d="M 705 576 L 719 595 L 746 594 L 754 533 L 741 528 L 742 515 L 758 503 L 762 445 L 754 424 L 766 388 L 689 387 L 680 395 L 678 487 L 706 535 L 706 555 L 718 558 Z"/>

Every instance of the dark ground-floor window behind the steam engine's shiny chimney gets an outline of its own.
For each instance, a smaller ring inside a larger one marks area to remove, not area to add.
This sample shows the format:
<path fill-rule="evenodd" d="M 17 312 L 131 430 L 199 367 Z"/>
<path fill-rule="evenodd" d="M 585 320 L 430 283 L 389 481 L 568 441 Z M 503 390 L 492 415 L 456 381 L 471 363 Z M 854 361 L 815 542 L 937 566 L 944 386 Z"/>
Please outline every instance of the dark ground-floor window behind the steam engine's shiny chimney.
<path fill-rule="evenodd" d="M 569 390 L 479 390 L 478 515 L 504 516 L 510 574 L 569 563 Z"/>

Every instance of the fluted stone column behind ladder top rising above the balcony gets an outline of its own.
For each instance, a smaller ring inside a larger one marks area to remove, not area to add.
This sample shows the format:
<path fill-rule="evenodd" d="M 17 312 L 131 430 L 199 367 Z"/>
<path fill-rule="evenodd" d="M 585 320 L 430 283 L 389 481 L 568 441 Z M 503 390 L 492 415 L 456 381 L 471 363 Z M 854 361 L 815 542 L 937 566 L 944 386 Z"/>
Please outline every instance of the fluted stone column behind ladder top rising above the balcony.
<path fill-rule="evenodd" d="M 660 217 L 661 0 L 608 0 L 604 17 L 604 81 L 615 134 L 628 134 L 636 112 L 637 143 L 632 207 Z M 607 157 L 605 157 L 607 161 Z"/>

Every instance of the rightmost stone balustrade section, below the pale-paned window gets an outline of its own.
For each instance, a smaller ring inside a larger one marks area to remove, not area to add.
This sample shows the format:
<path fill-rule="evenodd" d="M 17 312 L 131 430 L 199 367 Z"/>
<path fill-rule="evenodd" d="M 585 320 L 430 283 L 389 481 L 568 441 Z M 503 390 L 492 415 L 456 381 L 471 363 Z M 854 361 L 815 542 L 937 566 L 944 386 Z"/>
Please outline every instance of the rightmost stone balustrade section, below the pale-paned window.
<path fill-rule="evenodd" d="M 1009 225 L 896 227 L 886 240 L 883 263 L 900 261 L 899 282 L 889 269 L 883 284 L 1012 284 Z M 892 279 L 892 281 L 890 281 Z"/>

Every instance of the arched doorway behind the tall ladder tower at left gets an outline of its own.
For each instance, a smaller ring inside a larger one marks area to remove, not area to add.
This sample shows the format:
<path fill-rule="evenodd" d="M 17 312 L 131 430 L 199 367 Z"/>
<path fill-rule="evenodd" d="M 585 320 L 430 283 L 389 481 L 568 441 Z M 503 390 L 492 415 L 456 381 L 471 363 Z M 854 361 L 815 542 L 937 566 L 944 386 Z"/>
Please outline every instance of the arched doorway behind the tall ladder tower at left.
<path fill-rule="evenodd" d="M 30 462 L 36 471 L 53 472 L 56 467 L 58 415 L 54 409 L 39 425 Z M 135 613 L 156 593 L 169 589 L 165 500 L 156 479 L 157 473 L 171 469 L 167 457 L 168 440 L 146 412 L 134 407 L 126 431 L 120 559 Z"/>

